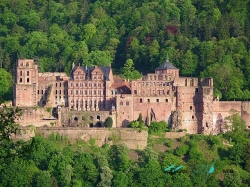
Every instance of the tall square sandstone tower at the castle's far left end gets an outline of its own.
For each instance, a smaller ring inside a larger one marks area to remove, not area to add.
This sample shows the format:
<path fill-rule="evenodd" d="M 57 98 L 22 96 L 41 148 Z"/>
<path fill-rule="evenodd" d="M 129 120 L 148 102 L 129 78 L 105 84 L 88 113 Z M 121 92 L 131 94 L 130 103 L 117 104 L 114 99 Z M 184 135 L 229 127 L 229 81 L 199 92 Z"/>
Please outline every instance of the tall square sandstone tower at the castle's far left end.
<path fill-rule="evenodd" d="M 19 59 L 15 69 L 13 106 L 37 105 L 38 67 L 33 59 Z"/>

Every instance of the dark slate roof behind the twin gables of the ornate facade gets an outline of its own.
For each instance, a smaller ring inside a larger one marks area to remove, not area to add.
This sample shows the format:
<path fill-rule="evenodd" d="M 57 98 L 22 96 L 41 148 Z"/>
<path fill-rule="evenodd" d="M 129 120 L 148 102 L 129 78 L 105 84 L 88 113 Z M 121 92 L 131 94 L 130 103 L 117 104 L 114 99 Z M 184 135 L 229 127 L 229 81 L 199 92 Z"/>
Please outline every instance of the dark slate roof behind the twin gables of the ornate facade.
<path fill-rule="evenodd" d="M 109 81 L 109 74 L 110 74 L 110 70 L 111 67 L 110 66 L 86 66 L 86 67 L 82 67 L 82 66 L 78 66 L 80 67 L 84 72 L 86 77 L 91 77 L 91 72 L 97 67 L 99 68 L 102 73 L 104 74 L 104 79 Z M 78 68 L 77 66 L 75 66 L 71 72 L 70 72 L 70 77 L 73 78 L 73 74 L 75 72 L 75 70 Z"/>

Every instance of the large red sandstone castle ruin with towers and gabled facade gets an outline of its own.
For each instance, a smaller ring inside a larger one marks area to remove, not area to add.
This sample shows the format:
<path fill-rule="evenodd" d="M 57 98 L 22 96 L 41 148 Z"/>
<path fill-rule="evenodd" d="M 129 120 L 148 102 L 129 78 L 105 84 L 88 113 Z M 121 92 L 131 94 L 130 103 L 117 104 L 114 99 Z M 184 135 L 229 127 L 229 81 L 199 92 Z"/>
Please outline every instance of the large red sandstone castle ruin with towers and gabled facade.
<path fill-rule="evenodd" d="M 68 76 L 39 73 L 33 59 L 18 59 L 13 94 L 24 126 L 102 127 L 111 117 L 113 127 L 127 127 L 141 114 L 147 125 L 164 120 L 176 131 L 218 134 L 230 123 L 226 117 L 237 112 L 250 128 L 250 102 L 214 99 L 212 78 L 179 77 L 168 58 L 131 82 L 114 76 L 110 66 L 73 63 Z"/>

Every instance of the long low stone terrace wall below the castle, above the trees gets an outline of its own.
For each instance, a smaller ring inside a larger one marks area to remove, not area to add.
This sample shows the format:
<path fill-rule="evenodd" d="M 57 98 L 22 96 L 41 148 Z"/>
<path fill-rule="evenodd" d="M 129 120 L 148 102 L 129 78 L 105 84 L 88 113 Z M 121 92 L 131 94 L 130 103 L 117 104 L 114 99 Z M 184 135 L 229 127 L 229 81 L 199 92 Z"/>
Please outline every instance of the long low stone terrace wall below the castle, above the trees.
<path fill-rule="evenodd" d="M 124 144 L 129 149 L 144 149 L 147 146 L 148 132 L 138 132 L 133 129 L 122 128 L 36 128 L 34 131 L 32 128 L 22 128 L 23 133 L 21 136 L 17 136 L 18 139 L 28 140 L 34 137 L 35 134 L 40 134 L 44 137 L 48 137 L 53 132 L 59 133 L 62 137 L 67 137 L 69 141 L 85 140 L 88 142 L 91 138 L 96 140 L 97 146 L 102 146 L 105 143 L 108 144 Z"/>

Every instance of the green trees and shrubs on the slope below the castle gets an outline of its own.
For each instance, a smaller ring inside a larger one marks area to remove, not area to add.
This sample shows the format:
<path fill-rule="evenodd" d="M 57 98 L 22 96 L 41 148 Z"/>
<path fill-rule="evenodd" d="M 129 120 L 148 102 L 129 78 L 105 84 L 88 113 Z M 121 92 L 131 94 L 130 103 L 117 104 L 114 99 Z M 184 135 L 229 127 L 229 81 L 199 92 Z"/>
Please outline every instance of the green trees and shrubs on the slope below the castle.
<path fill-rule="evenodd" d="M 230 131 L 217 136 L 186 134 L 165 136 L 166 122 L 140 119 L 134 130 L 147 130 L 144 150 L 128 149 L 110 137 L 98 147 L 95 139 L 69 141 L 51 133 L 28 141 L 13 139 L 20 133 L 15 119 L 22 112 L 5 105 L 0 110 L 1 187 L 248 187 L 250 184 L 250 131 L 233 114 Z M 49 130 L 49 129 L 47 129 Z M 35 131 L 30 126 L 30 131 Z M 136 142 L 135 142 L 136 143 Z M 172 169 L 171 169 L 172 168 Z"/>

